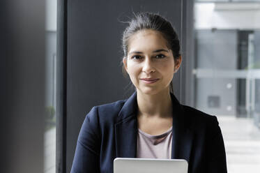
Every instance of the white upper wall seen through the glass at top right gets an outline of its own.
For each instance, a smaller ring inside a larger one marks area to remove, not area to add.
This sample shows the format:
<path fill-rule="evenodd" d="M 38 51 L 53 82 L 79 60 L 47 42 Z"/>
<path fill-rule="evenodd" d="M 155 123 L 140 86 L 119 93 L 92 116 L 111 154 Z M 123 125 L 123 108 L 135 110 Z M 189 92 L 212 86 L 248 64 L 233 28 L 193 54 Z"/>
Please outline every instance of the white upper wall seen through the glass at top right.
<path fill-rule="evenodd" d="M 260 3 L 195 3 L 196 29 L 260 29 Z"/>

